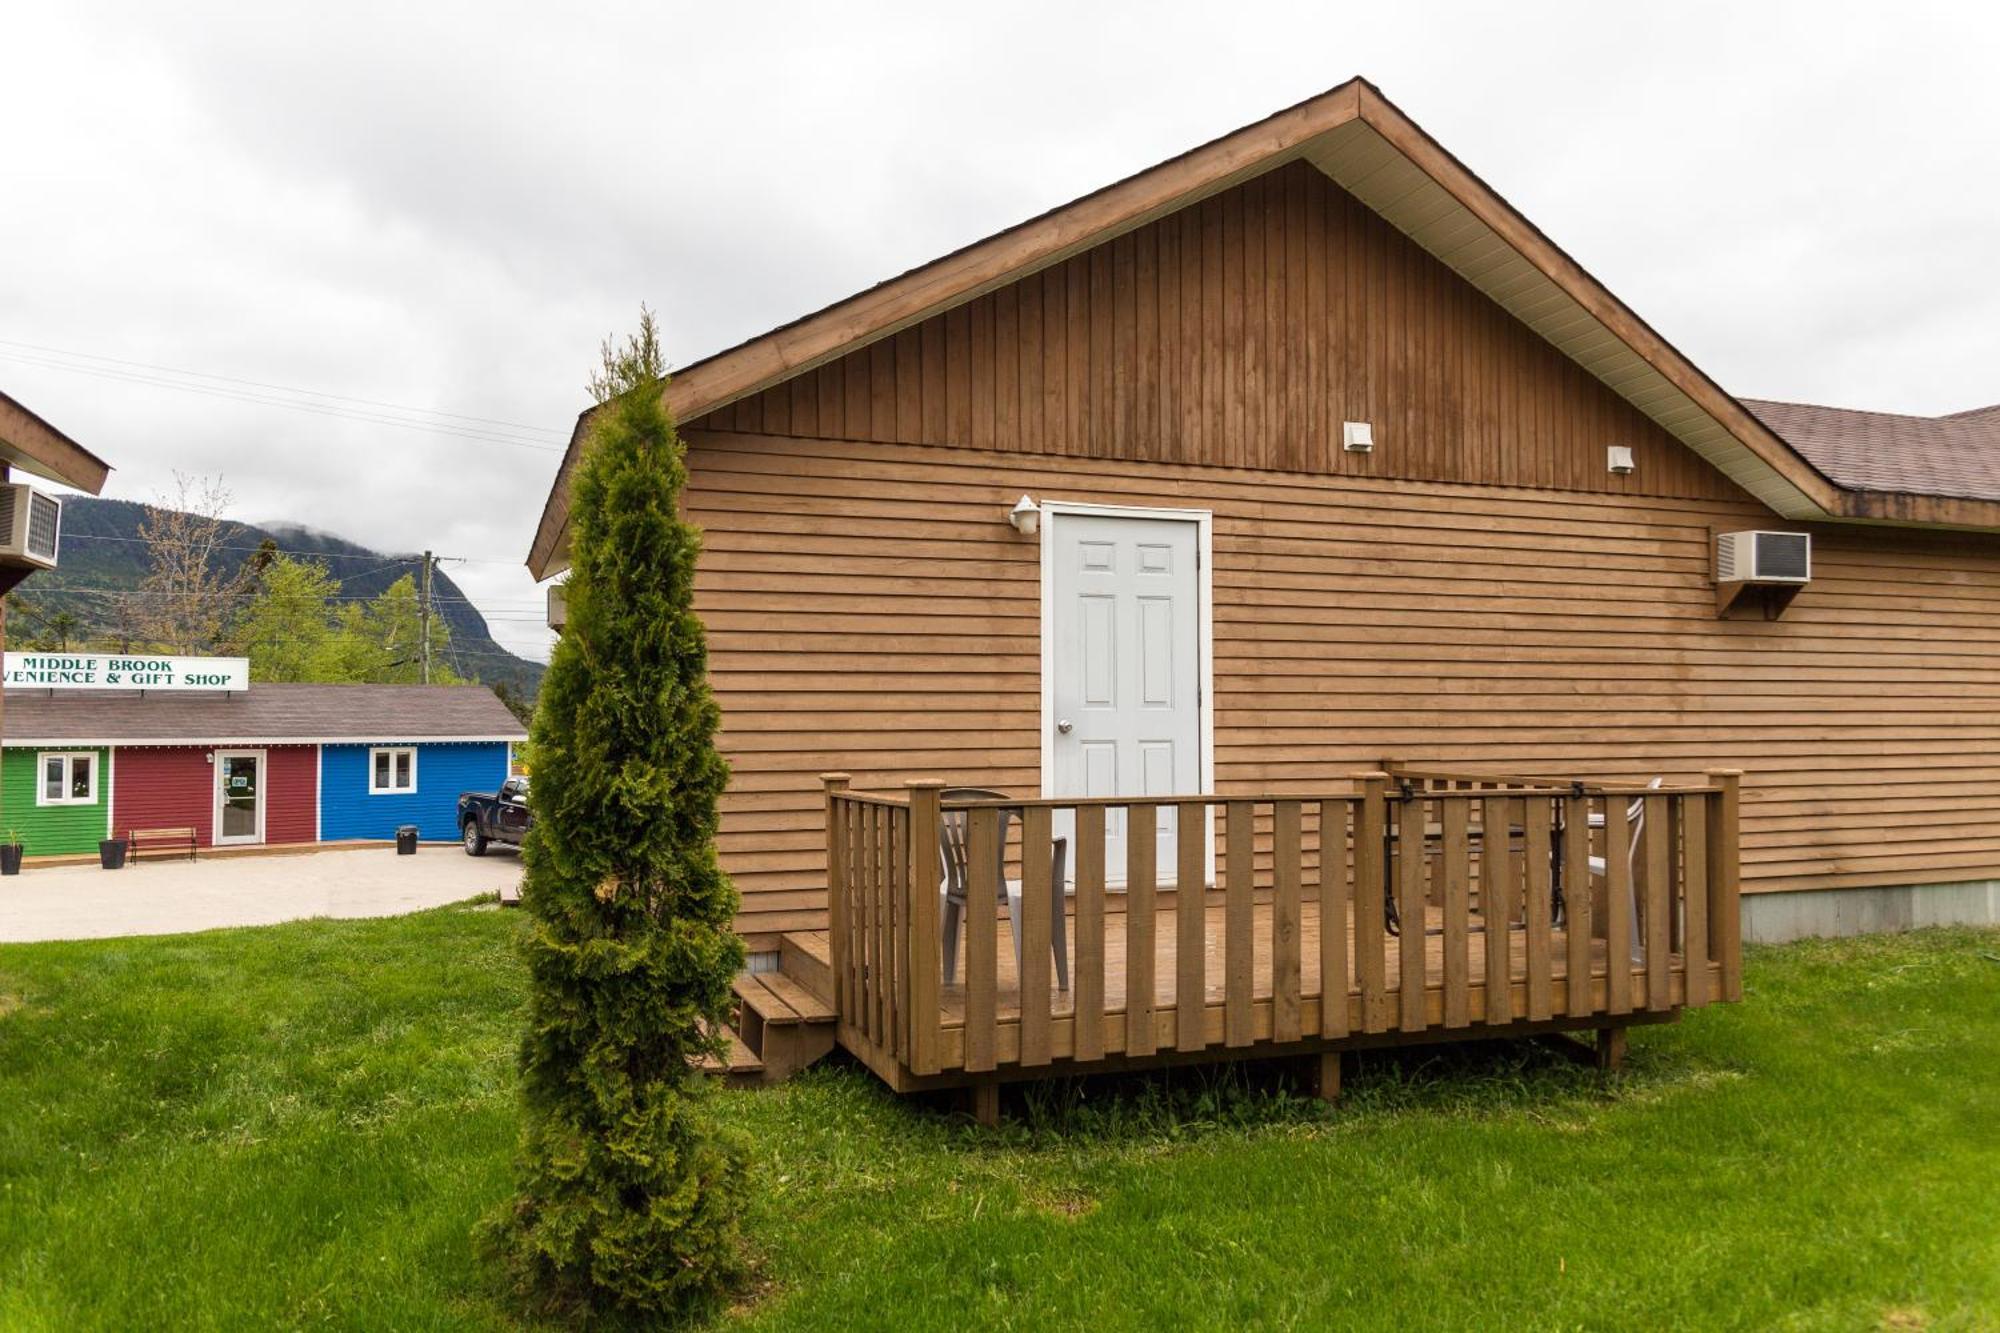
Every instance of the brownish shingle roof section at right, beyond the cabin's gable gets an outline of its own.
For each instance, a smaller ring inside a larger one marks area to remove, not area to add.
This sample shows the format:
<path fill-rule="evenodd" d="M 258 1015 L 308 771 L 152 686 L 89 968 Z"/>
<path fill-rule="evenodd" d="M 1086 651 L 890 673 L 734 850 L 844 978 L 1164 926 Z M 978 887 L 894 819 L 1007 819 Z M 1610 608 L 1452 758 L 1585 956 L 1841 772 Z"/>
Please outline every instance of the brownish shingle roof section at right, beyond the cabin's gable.
<path fill-rule="evenodd" d="M 1954 416 L 1856 412 L 1740 398 L 1848 490 L 2000 500 L 2000 404 Z"/>

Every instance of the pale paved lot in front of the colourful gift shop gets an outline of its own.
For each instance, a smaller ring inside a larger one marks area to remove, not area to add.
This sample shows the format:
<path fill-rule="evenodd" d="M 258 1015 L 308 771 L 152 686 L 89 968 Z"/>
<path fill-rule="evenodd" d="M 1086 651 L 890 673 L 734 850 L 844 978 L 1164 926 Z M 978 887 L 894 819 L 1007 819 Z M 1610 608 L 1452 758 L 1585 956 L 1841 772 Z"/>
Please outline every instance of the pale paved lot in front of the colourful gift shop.
<path fill-rule="evenodd" d="M 0 877 L 0 941 L 180 935 L 304 917 L 396 917 L 520 883 L 520 857 L 456 845 L 282 857 L 28 867 Z"/>

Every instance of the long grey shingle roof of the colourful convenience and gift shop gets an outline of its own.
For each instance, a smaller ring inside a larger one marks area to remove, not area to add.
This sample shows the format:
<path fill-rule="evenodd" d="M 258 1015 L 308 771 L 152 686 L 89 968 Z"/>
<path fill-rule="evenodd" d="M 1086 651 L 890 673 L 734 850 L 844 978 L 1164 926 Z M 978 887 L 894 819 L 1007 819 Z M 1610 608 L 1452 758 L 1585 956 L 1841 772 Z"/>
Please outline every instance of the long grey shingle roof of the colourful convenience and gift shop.
<path fill-rule="evenodd" d="M 482 685 L 252 685 L 240 695 L 12 689 L 8 745 L 526 741 Z"/>

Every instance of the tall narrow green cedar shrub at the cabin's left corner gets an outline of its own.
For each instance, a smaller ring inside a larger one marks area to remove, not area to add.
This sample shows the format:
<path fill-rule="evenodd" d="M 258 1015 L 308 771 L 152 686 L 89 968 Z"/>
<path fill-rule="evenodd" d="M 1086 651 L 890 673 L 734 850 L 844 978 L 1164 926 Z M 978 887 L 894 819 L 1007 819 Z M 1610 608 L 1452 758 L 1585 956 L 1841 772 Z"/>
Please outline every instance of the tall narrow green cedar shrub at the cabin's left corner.
<path fill-rule="evenodd" d="M 746 1153 L 706 1115 L 738 897 L 716 861 L 700 532 L 650 312 L 604 344 L 570 502 L 568 626 L 530 729 L 518 1197 L 488 1245 L 536 1305 L 700 1315 L 740 1277 Z"/>

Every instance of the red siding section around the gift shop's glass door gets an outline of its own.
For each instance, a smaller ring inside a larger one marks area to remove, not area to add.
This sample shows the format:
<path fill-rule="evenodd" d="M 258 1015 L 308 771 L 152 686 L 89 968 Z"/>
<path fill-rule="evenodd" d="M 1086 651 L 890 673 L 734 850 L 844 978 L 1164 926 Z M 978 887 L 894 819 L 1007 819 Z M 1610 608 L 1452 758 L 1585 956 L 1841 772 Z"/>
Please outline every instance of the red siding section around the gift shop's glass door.
<path fill-rule="evenodd" d="M 208 747 L 118 747 L 112 761 L 114 835 L 194 825 L 214 845 L 216 769 Z M 316 835 L 320 759 L 310 745 L 274 745 L 264 763 L 264 841 L 310 843 Z"/>

